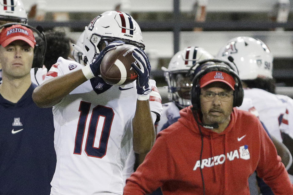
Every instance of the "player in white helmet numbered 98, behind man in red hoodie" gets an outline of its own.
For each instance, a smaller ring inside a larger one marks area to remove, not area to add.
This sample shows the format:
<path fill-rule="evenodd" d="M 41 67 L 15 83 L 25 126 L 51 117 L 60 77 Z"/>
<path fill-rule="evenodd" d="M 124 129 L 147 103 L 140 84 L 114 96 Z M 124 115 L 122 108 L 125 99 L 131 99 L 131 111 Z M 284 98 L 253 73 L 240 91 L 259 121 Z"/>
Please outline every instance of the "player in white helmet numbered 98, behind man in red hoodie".
<path fill-rule="evenodd" d="M 280 142 L 283 141 L 281 133 L 292 138 L 293 119 L 290 120 L 290 116 L 293 104 L 291 98 L 274 94 L 276 85 L 272 76 L 273 55 L 268 46 L 256 38 L 235 37 L 219 50 L 217 56 L 229 60 L 237 67 L 243 86 L 248 87 L 244 88 L 244 97 L 251 98 L 259 112 L 259 119 L 269 133 Z M 292 154 L 291 138 L 283 143 Z M 292 174 L 291 169 L 288 172 Z"/>

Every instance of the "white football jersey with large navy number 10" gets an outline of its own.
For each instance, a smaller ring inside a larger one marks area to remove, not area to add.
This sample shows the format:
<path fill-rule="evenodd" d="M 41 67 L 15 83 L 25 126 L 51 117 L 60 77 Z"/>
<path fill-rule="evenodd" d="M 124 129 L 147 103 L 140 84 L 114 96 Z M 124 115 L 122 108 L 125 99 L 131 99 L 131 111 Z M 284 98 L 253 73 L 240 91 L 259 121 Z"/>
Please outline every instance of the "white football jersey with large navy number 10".
<path fill-rule="evenodd" d="M 82 67 L 60 57 L 45 80 Z M 122 171 L 132 149 L 136 82 L 105 90 L 105 83 L 93 80 L 82 83 L 53 106 L 57 164 L 52 195 L 123 193 Z M 161 97 L 154 80 L 150 85 L 151 111 L 160 114 Z"/>

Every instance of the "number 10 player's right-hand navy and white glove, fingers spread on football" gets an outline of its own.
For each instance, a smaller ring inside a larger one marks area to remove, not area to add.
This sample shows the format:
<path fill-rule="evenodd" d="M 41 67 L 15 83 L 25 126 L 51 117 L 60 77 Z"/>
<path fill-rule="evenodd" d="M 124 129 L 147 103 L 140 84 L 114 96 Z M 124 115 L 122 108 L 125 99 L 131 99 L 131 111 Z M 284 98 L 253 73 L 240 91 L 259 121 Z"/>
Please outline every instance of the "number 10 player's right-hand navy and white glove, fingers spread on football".
<path fill-rule="evenodd" d="M 136 62 L 132 63 L 131 66 L 138 75 L 136 79 L 137 99 L 148 100 L 152 91 L 149 85 L 151 69 L 149 59 L 146 53 L 139 48 L 133 50 L 132 56 Z"/>

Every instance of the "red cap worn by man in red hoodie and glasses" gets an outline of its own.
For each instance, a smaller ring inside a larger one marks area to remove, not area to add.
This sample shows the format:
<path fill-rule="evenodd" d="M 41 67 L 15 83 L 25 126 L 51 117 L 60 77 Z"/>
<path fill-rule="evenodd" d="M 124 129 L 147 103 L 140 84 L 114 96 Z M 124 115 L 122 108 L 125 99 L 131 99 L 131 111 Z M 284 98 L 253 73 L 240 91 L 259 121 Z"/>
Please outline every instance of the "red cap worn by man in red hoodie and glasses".
<path fill-rule="evenodd" d="M 226 83 L 227 85 L 229 85 L 229 87 L 231 87 L 233 90 L 235 90 L 234 89 L 235 80 L 234 80 L 233 76 L 231 76 L 228 73 L 221 72 L 221 71 L 212 71 L 212 72 L 205 74 L 199 80 L 199 84 L 202 88 L 202 87 L 204 87 L 212 82 L 215 82 L 215 81 L 220 81 L 220 82 Z"/>

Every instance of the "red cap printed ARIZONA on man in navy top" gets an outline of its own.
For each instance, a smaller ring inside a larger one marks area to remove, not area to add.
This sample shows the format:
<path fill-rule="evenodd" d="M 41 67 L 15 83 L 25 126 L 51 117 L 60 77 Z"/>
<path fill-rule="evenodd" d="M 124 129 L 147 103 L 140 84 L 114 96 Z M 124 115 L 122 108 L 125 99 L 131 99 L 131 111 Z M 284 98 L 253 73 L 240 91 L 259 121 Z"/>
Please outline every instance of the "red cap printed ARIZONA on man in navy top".
<path fill-rule="evenodd" d="M 25 26 L 17 24 L 2 29 L 0 33 L 0 44 L 3 47 L 6 47 L 15 40 L 23 40 L 32 48 L 36 45 L 33 31 Z"/>

